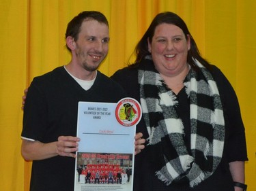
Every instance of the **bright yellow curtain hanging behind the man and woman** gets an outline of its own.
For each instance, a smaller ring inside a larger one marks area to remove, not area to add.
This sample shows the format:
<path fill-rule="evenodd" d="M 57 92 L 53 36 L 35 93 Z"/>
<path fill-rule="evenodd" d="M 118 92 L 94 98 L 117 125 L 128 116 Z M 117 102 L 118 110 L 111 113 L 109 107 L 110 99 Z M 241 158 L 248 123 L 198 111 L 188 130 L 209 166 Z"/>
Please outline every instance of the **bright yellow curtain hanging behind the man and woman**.
<path fill-rule="evenodd" d="M 246 183 L 256 190 L 256 1 L 250 0 L 1 0 L 0 190 L 29 190 L 31 162 L 20 156 L 23 90 L 33 77 L 68 63 L 66 25 L 84 10 L 109 20 L 109 56 L 100 67 L 106 75 L 126 65 L 156 14 L 184 18 L 201 54 L 238 94 L 248 146 Z"/>

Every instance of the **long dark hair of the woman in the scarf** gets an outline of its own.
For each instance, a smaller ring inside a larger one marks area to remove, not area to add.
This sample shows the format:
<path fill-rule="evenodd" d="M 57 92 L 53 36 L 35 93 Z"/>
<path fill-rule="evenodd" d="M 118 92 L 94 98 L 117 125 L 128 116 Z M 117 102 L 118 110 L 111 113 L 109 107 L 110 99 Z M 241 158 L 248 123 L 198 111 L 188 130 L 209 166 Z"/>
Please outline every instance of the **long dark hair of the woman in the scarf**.
<path fill-rule="evenodd" d="M 195 59 L 199 60 L 199 62 L 204 65 L 207 68 L 210 68 L 209 63 L 201 57 L 200 52 L 197 48 L 197 44 L 195 43 L 195 40 L 193 39 L 192 35 L 188 31 L 188 27 L 186 27 L 186 23 L 180 16 L 177 16 L 177 14 L 174 14 L 173 12 L 162 12 L 152 20 L 150 27 L 147 29 L 137 46 L 135 47 L 134 54 L 136 56 L 135 63 L 139 63 L 145 56 L 151 55 L 151 53 L 148 50 L 148 44 L 147 39 L 149 39 L 150 42 L 152 42 L 152 37 L 154 36 L 154 32 L 156 30 L 156 27 L 159 24 L 167 23 L 167 24 L 174 24 L 177 27 L 180 27 L 182 29 L 186 39 L 188 39 L 188 36 L 190 37 L 190 50 L 188 50 L 188 57 L 187 62 L 188 64 L 197 70 L 197 65 L 195 65 Z"/>

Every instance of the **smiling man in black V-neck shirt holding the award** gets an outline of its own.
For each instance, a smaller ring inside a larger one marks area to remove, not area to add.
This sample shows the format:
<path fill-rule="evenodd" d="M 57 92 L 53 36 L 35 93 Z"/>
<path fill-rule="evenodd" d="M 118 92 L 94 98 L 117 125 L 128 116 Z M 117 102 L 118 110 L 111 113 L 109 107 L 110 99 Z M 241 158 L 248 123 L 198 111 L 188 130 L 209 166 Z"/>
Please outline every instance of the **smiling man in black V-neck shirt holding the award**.
<path fill-rule="evenodd" d="M 74 17 L 66 29 L 66 47 L 70 63 L 35 77 L 27 92 L 21 136 L 23 158 L 33 160 L 31 191 L 74 189 L 79 101 L 117 103 L 126 97 L 119 84 L 97 70 L 109 50 L 103 14 Z"/>

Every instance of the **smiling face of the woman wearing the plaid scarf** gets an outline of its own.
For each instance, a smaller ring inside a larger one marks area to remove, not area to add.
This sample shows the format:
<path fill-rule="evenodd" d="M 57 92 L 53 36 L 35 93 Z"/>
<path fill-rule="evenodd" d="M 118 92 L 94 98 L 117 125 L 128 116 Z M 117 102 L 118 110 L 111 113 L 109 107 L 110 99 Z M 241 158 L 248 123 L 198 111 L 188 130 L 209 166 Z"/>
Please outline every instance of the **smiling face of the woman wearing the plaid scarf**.
<path fill-rule="evenodd" d="M 154 65 L 161 75 L 171 77 L 186 70 L 190 38 L 188 36 L 186 40 L 180 27 L 174 24 L 159 24 L 152 42 L 148 40 L 148 47 Z"/>

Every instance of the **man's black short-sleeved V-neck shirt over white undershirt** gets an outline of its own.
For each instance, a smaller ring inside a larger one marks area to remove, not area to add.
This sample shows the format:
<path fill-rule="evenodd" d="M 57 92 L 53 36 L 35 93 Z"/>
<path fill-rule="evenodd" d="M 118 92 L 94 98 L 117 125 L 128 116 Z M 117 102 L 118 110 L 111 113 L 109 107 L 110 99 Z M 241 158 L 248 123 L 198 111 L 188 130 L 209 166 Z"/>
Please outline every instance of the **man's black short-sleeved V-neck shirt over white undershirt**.
<path fill-rule="evenodd" d="M 63 67 L 35 77 L 27 93 L 22 137 L 42 143 L 60 135 L 76 137 L 79 101 L 117 103 L 126 97 L 119 84 L 97 73 L 94 85 L 84 90 Z M 75 159 L 55 156 L 34 160 L 31 191 L 74 190 Z"/>

